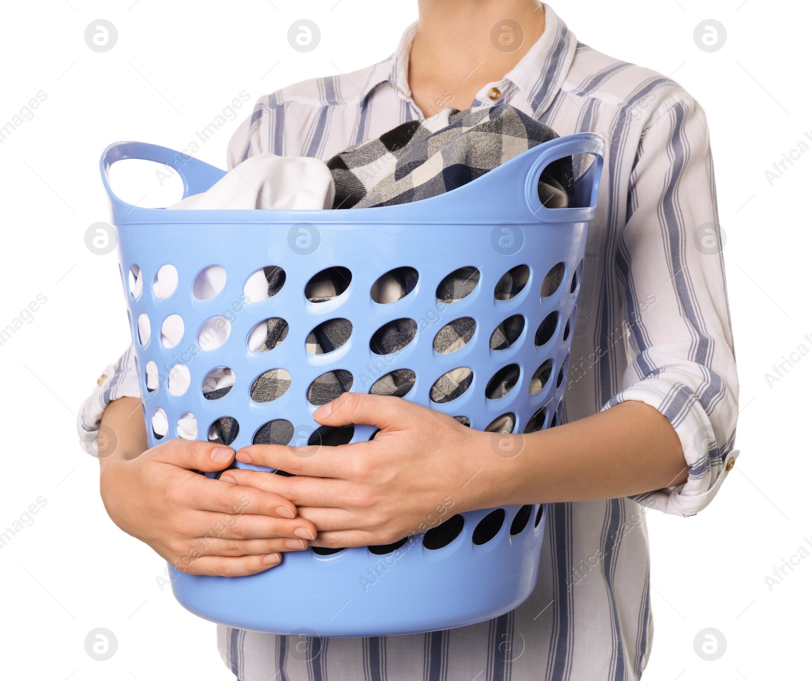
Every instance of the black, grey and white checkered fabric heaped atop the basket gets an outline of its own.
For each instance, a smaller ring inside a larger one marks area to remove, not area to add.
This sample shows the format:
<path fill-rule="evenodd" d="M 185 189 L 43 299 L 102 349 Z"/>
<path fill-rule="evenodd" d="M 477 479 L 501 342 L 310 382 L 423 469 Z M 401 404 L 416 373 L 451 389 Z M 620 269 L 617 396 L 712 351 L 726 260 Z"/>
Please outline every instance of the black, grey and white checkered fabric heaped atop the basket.
<path fill-rule="evenodd" d="M 513 106 L 445 109 L 330 158 L 333 207 L 371 208 L 438 196 L 556 137 Z M 571 159 L 553 162 L 539 179 L 539 198 L 548 207 L 563 208 L 572 186 Z"/>

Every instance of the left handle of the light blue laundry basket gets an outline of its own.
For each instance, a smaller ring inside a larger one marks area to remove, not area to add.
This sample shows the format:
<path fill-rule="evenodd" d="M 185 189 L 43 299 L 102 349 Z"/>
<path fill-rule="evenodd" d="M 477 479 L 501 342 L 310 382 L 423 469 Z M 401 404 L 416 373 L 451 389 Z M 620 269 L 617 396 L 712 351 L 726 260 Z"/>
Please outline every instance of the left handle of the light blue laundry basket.
<path fill-rule="evenodd" d="M 99 170 L 102 171 L 102 183 L 110 196 L 114 211 L 124 209 L 129 213 L 136 206 L 128 204 L 126 201 L 115 196 L 110 188 L 110 166 L 115 162 L 123 161 L 127 158 L 137 158 L 141 161 L 154 161 L 170 166 L 184 181 L 184 199 L 192 194 L 200 194 L 211 187 L 218 179 L 226 175 L 225 170 L 209 166 L 208 163 L 189 156 L 187 153 L 168 149 L 158 144 L 146 144 L 145 142 L 114 142 L 102 152 L 99 161 Z"/>

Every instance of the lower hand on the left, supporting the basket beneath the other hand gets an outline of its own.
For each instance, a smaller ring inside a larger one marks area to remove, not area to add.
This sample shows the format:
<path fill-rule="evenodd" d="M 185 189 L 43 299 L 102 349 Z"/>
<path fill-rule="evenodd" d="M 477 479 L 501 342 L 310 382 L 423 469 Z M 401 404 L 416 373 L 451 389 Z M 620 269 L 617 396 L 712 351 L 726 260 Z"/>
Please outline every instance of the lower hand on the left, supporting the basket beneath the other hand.
<path fill-rule="evenodd" d="M 100 448 L 107 513 L 180 571 L 253 575 L 278 564 L 280 552 L 307 548 L 316 536 L 313 523 L 296 517 L 296 506 L 279 494 L 195 472 L 226 468 L 234 457 L 228 447 L 173 439 L 128 455 L 145 446 L 135 444 L 145 442 L 138 400 L 116 400 L 102 428 L 116 442 L 109 454 Z"/>

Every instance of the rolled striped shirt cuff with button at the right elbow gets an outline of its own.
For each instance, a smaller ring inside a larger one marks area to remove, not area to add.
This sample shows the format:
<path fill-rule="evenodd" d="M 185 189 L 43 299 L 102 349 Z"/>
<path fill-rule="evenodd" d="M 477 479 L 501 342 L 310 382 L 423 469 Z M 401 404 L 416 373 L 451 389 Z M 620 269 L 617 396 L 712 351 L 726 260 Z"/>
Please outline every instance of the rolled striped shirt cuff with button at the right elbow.
<path fill-rule="evenodd" d="M 736 411 L 717 404 L 709 416 L 689 386 L 662 378 L 649 378 L 629 386 L 603 408 L 631 400 L 649 404 L 667 417 L 680 437 L 689 468 L 688 481 L 684 484 L 631 498 L 664 513 L 686 518 L 696 515 L 719 492 L 739 455 L 738 450 L 732 449 Z"/>

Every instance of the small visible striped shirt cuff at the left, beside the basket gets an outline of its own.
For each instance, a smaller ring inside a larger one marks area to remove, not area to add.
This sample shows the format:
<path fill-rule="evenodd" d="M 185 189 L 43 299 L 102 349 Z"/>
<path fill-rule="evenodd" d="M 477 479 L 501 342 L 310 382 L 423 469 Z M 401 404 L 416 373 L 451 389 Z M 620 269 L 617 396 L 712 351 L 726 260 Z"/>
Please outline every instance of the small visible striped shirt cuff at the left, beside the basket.
<path fill-rule="evenodd" d="M 104 410 L 111 402 L 123 397 L 141 399 L 135 351 L 132 345 L 119 357 L 119 361 L 106 367 L 96 390 L 93 390 L 89 398 L 84 400 L 79 410 L 79 416 L 76 418 L 79 443 L 89 455 L 98 455 L 96 440 Z"/>

